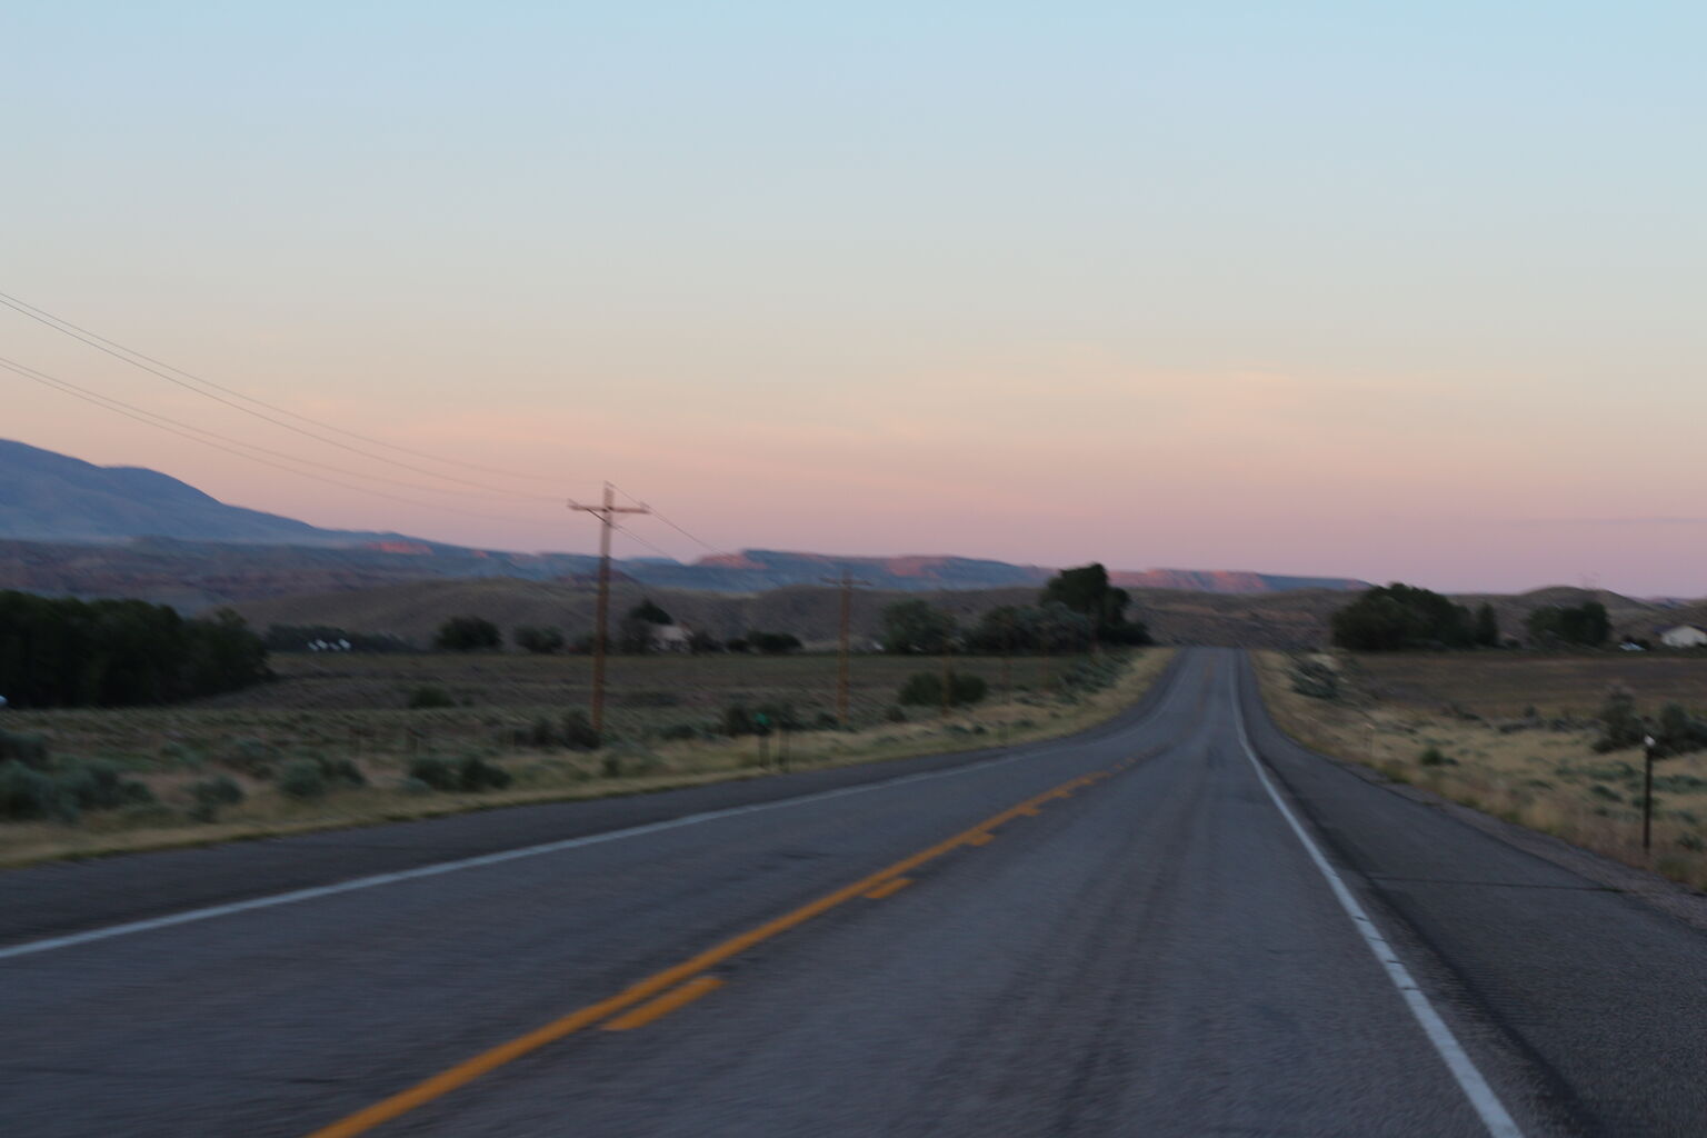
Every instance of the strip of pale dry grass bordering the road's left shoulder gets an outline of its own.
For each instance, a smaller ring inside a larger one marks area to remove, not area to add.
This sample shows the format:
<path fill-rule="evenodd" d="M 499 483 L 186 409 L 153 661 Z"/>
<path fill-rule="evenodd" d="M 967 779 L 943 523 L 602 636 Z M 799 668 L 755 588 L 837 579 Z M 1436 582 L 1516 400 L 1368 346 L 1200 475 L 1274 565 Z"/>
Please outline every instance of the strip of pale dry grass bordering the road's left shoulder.
<path fill-rule="evenodd" d="M 75 822 L 46 817 L 0 822 L 0 865 L 201 846 L 1038 742 L 1086 730 L 1132 706 L 1171 657 L 1168 648 L 1145 648 L 1079 662 L 1075 672 L 1057 662 L 1057 682 L 1048 694 L 1022 693 L 946 717 L 917 713 L 906 722 L 857 730 L 792 730 L 787 737 L 773 730 L 654 737 L 587 751 L 546 744 L 329 758 L 324 749 L 292 758 L 266 746 L 239 747 L 222 756 L 217 773 L 210 773 L 213 766 L 205 759 L 174 759 L 160 771 L 131 768 L 131 776 L 149 787 L 152 800 L 145 804 L 85 812 Z M 295 781 L 287 783 L 283 773 Z"/>

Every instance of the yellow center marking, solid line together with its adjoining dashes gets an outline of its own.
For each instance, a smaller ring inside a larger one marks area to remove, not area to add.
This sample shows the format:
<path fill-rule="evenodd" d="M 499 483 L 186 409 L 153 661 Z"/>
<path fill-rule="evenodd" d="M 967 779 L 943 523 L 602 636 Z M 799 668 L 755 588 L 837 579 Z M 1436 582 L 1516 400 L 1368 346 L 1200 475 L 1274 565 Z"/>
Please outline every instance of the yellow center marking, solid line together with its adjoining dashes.
<path fill-rule="evenodd" d="M 509 1042 L 498 1044 L 483 1054 L 476 1054 L 471 1060 L 464 1060 L 456 1066 L 434 1075 L 423 1083 L 417 1083 L 408 1090 L 382 1099 L 370 1107 L 357 1111 L 347 1118 L 338 1119 L 331 1126 L 316 1129 L 309 1138 L 353 1138 L 353 1135 L 365 1135 L 382 1123 L 389 1123 L 394 1118 L 408 1114 L 410 1111 L 422 1107 L 434 1099 L 451 1094 L 459 1087 L 466 1087 L 481 1075 L 493 1071 L 505 1063 L 522 1058 L 531 1051 L 556 1042 L 565 1036 L 574 1036 L 587 1027 L 601 1025 L 608 1031 L 630 1031 L 633 1027 L 642 1027 L 667 1015 L 676 1008 L 698 1000 L 714 988 L 722 986 L 722 979 L 710 976 L 710 969 L 717 967 L 724 961 L 746 952 L 748 949 L 778 937 L 790 928 L 804 925 L 814 916 L 823 916 L 830 909 L 845 904 L 855 897 L 881 899 L 893 892 L 906 887 L 912 874 L 920 865 L 941 858 L 944 853 L 958 850 L 961 846 L 983 846 L 992 841 L 999 826 L 1011 822 L 1017 817 L 1036 816 L 1046 802 L 1052 798 L 1067 798 L 1075 790 L 1089 787 L 1096 781 L 1110 778 L 1115 771 L 1125 769 L 1139 761 L 1137 756 L 1116 764 L 1108 771 L 1094 771 L 1091 775 L 1081 775 L 1079 778 L 1069 780 L 1053 790 L 1028 798 L 1016 807 L 1009 807 L 993 817 L 987 817 L 971 829 L 954 834 L 947 841 L 937 843 L 929 850 L 922 850 L 912 856 L 901 858 L 888 868 L 877 870 L 871 877 L 864 877 L 852 885 L 836 889 L 831 894 L 824 894 L 818 901 L 802 904 L 792 913 L 785 913 L 772 921 L 749 928 L 748 932 L 731 937 L 729 940 L 700 952 L 695 957 L 683 961 L 673 967 L 666 967 L 662 973 L 647 976 L 637 984 L 625 988 L 623 991 L 599 1000 L 597 1003 L 589 1003 L 584 1008 L 570 1012 L 568 1015 L 538 1027 L 526 1036 L 510 1039 Z M 679 986 L 678 986 L 679 984 Z M 615 1019 L 613 1019 L 615 1017 Z M 608 1022 L 606 1022 L 608 1020 Z"/>

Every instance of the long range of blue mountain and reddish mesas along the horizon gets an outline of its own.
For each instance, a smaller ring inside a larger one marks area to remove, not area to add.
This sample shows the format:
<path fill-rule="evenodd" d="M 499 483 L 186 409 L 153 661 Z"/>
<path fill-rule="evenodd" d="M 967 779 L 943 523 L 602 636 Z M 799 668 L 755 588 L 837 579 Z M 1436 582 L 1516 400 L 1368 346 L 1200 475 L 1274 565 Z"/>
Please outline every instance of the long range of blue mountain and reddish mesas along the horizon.
<path fill-rule="evenodd" d="M 143 597 L 201 609 L 234 601 L 329 594 L 444 578 L 586 578 L 580 553 L 469 549 L 401 534 L 319 529 L 227 505 L 157 471 L 94 466 L 0 440 L 0 589 Z M 833 556 L 743 549 L 691 565 L 618 561 L 623 580 L 655 589 L 760 594 L 848 573 L 905 592 L 1041 585 L 1055 572 L 958 556 Z M 1128 589 L 1267 594 L 1360 589 L 1362 582 L 1197 570 L 1116 572 Z"/>

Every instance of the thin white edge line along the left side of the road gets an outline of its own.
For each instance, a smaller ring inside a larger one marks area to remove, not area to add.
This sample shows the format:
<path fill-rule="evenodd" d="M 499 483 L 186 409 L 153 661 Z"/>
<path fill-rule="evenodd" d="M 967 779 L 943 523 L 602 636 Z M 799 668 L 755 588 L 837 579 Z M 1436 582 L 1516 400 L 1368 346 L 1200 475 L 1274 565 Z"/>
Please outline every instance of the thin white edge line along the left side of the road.
<path fill-rule="evenodd" d="M 201 909 L 184 909 L 183 913 L 167 913 L 166 916 L 150 916 L 149 920 L 143 921 L 126 921 L 123 925 L 90 928 L 80 933 L 67 933 L 65 937 L 26 940 L 22 943 L 0 947 L 0 961 L 14 961 L 22 955 L 34 955 L 38 952 L 53 952 L 56 949 L 72 949 L 77 945 L 94 943 L 97 940 L 111 940 L 114 937 L 147 933 L 157 928 L 171 928 L 174 925 L 193 925 L 196 921 L 210 921 L 218 916 L 234 916 L 237 913 L 249 913 L 254 909 L 271 909 L 280 904 L 299 904 L 302 901 L 318 901 L 319 897 L 333 897 L 340 892 L 355 892 L 358 889 L 377 889 L 379 885 L 396 885 L 406 880 L 417 880 L 420 877 L 437 877 L 439 874 L 454 874 L 457 870 L 481 868 L 485 865 L 500 865 L 504 862 L 517 862 L 521 858 L 536 858 L 546 853 L 562 853 L 563 850 L 594 846 L 604 841 L 620 841 L 623 838 L 638 838 L 642 834 L 655 834 L 659 831 L 678 829 L 681 826 L 696 826 L 700 822 L 712 822 L 724 817 L 736 817 L 737 814 L 780 810 L 787 807 L 806 805 L 809 802 L 824 802 L 828 798 L 840 798 L 843 795 L 871 793 L 874 790 L 889 790 L 893 787 L 927 781 L 932 778 L 953 778 L 958 775 L 970 775 L 973 771 L 990 769 L 992 766 L 1017 763 L 1019 759 L 1043 758 L 1046 754 L 1057 752 L 1058 749 L 1060 747 L 1045 747 L 1041 751 L 1022 751 L 1019 754 L 1005 754 L 997 759 L 985 759 L 983 763 L 968 763 L 964 766 L 954 766 L 946 771 L 923 771 L 920 775 L 901 775 L 898 778 L 886 778 L 874 783 L 860 783 L 857 787 L 818 790 L 794 798 L 751 802 L 748 805 L 734 805 L 734 807 L 725 807 L 722 810 L 703 810 L 700 814 L 685 814 L 681 817 L 671 817 L 659 822 L 647 822 L 644 826 L 630 826 L 626 829 L 611 829 L 599 834 L 584 834 L 580 838 L 546 841 L 536 846 L 521 846 L 516 850 L 500 850 L 497 853 L 481 853 L 478 856 L 459 858 L 456 862 L 434 862 L 432 865 L 418 865 L 415 868 L 398 870 L 394 874 L 352 877 L 350 880 L 335 882 L 331 885 L 312 885 L 309 889 L 292 889 L 290 892 L 275 892 L 265 897 L 251 897 L 248 901 L 232 901 L 230 904 L 213 904 Z"/>

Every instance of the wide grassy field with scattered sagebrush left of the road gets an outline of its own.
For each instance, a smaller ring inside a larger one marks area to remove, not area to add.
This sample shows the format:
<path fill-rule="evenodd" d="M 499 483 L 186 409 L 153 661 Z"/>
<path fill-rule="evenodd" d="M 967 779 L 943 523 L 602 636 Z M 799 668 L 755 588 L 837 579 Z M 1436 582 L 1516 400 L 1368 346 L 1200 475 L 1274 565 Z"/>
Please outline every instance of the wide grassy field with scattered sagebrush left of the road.
<path fill-rule="evenodd" d="M 155 802 L 85 812 L 77 824 L 0 824 L 0 865 L 751 778 L 775 769 L 784 746 L 789 766 L 806 768 L 1043 739 L 1128 706 L 1169 655 L 1016 657 L 1007 684 L 999 659 L 956 659 L 956 669 L 988 681 L 990 696 L 947 717 L 894 703 L 901 682 L 937 672 L 939 659 L 862 655 L 852 667 L 848 730 L 833 727 L 833 655 L 620 657 L 599 751 L 526 740 L 534 723 L 587 706 L 591 662 L 582 657 L 280 655 L 277 682 L 195 705 L 9 710 L 7 730 L 44 735 L 56 763 L 108 763 Z M 444 691 L 454 706 L 410 710 L 420 688 Z M 727 737 L 717 727 L 731 705 L 787 706 L 818 729 L 789 732 L 787 744 Z M 278 790 L 280 771 L 328 759 L 352 763 L 367 785 L 311 798 Z M 430 792 L 408 778 L 422 759 L 478 759 L 510 785 Z M 244 800 L 196 821 L 193 788 L 210 778 L 234 781 Z"/>

